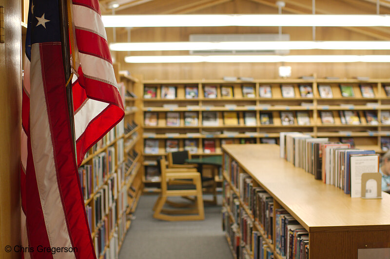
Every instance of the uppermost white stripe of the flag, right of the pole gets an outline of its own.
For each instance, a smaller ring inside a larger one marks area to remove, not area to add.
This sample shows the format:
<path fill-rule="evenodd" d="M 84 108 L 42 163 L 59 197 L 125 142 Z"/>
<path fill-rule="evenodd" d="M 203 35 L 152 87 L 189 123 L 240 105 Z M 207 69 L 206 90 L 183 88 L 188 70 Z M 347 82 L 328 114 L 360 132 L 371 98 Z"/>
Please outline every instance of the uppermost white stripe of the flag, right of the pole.
<path fill-rule="evenodd" d="M 91 8 L 73 5 L 73 21 L 76 27 L 85 28 L 87 31 L 93 31 L 107 40 L 106 30 L 100 15 Z"/>

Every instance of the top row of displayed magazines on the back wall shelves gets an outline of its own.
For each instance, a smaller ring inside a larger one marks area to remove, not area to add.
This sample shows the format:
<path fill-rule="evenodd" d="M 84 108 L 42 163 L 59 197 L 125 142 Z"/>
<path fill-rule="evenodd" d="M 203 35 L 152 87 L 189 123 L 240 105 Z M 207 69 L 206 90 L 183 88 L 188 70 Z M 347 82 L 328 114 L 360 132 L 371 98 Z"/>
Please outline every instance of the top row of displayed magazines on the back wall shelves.
<path fill-rule="evenodd" d="M 340 84 L 340 93 L 343 97 L 354 97 L 355 92 L 352 85 Z M 359 85 L 361 95 L 363 98 L 375 98 L 374 90 L 370 84 Z M 204 98 L 215 99 L 218 96 L 217 86 L 203 86 Z M 313 89 L 312 85 L 299 85 L 300 97 L 312 98 Z M 221 98 L 234 98 L 234 87 L 233 86 L 220 86 Z M 271 85 L 260 85 L 259 96 L 261 98 L 272 98 L 273 87 Z M 295 86 L 294 85 L 281 85 L 280 86 L 282 96 L 284 98 L 295 98 Z M 384 90 L 387 96 L 390 96 L 390 86 L 384 86 Z M 333 98 L 333 92 L 330 85 L 318 85 L 318 92 L 321 98 Z M 241 94 L 244 98 L 254 98 L 255 86 L 254 85 L 243 85 L 241 87 Z M 144 86 L 145 99 L 151 99 L 157 97 L 156 86 Z M 161 86 L 160 98 L 162 99 L 175 99 L 177 97 L 176 86 Z M 199 97 L 197 86 L 185 86 L 185 98 L 196 99 Z"/>

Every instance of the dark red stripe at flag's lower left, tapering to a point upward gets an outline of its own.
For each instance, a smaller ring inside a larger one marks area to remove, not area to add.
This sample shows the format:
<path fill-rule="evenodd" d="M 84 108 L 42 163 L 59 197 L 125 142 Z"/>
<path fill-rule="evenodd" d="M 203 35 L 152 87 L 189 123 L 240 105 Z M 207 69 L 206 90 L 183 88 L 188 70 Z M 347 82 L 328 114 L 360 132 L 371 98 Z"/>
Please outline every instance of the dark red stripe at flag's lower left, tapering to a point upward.
<path fill-rule="evenodd" d="M 50 247 L 49 237 L 47 236 L 46 224 L 43 218 L 42 207 L 40 204 L 39 190 L 37 185 L 37 178 L 35 174 L 34 161 L 31 150 L 31 139 L 27 138 L 27 169 L 26 169 L 26 193 L 28 193 L 26 200 L 26 224 L 27 234 L 29 237 L 29 245 L 31 247 Z M 37 249 L 30 251 L 31 258 L 39 259 L 53 259 L 51 253 L 39 253 Z"/>

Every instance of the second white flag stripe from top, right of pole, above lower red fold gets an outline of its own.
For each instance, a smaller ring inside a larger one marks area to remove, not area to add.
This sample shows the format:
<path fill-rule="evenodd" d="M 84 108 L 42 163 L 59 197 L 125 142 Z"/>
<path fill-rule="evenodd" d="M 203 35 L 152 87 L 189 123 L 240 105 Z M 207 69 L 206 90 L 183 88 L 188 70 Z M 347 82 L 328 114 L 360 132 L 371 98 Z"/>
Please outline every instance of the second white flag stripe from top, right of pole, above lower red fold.
<path fill-rule="evenodd" d="M 110 62 L 96 56 L 79 53 L 82 72 L 86 77 L 96 78 L 117 87 L 114 68 Z"/>

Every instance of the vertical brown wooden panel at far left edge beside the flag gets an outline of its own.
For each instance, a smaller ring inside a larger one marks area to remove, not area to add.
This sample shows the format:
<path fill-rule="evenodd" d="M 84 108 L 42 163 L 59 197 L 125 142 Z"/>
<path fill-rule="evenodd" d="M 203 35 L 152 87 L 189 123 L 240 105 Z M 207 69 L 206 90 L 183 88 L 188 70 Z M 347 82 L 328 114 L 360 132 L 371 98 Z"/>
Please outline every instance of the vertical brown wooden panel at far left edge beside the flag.
<path fill-rule="evenodd" d="M 20 1 L 4 6 L 5 43 L 0 43 L 0 259 L 17 259 L 5 246 L 20 244 Z"/>

